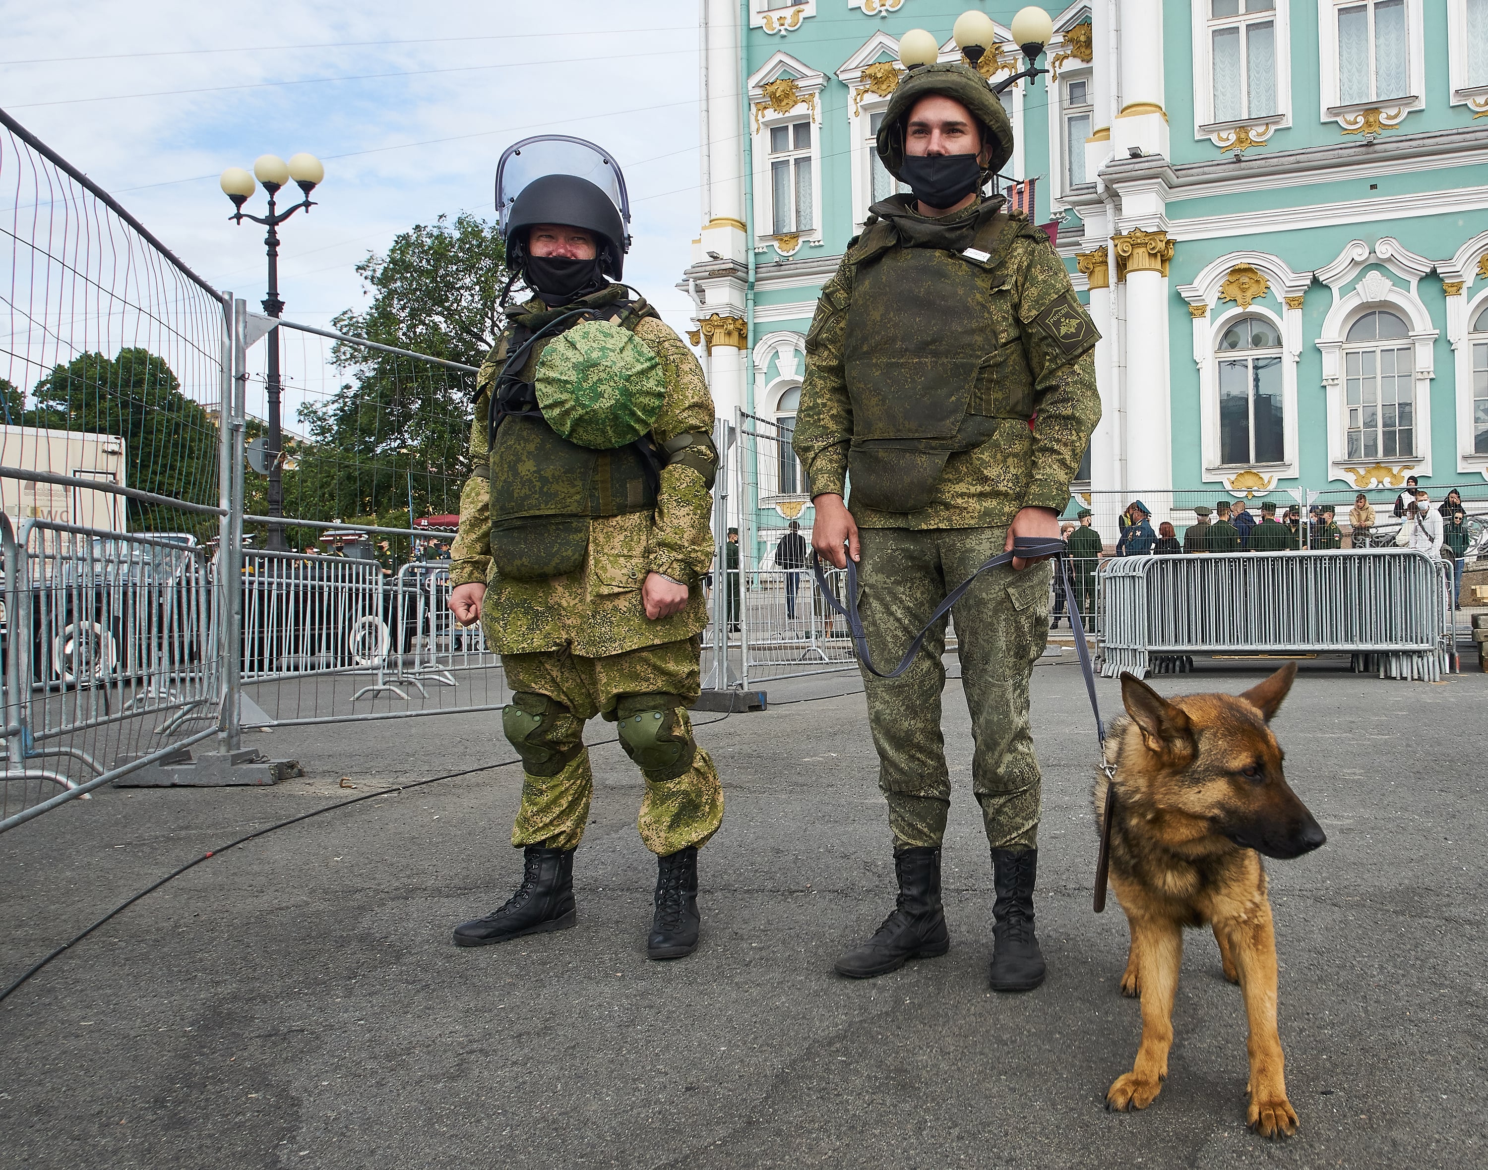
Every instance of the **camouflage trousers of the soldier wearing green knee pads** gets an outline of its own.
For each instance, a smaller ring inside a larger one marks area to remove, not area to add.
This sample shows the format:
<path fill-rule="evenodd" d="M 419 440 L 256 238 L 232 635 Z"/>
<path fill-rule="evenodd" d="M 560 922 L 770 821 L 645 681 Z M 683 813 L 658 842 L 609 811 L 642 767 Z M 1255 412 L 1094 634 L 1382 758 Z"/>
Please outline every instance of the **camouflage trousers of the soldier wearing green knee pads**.
<path fill-rule="evenodd" d="M 503 654 L 501 668 L 513 693 L 545 694 L 568 709 L 561 717 L 557 746 L 580 748 L 555 776 L 522 772 L 522 804 L 512 827 L 512 844 L 522 849 L 577 849 L 589 821 L 594 772 L 582 748 L 583 724 L 601 715 L 613 723 L 618 706 L 631 696 L 665 694 L 677 702 L 673 715 L 677 731 L 690 737 L 687 708 L 698 697 L 699 639 L 626 650 L 601 659 L 586 659 L 565 650 L 540 654 Z M 698 748 L 692 767 L 665 779 L 641 772 L 641 841 L 658 856 L 689 844 L 701 846 L 723 821 L 723 785 L 708 754 Z"/>

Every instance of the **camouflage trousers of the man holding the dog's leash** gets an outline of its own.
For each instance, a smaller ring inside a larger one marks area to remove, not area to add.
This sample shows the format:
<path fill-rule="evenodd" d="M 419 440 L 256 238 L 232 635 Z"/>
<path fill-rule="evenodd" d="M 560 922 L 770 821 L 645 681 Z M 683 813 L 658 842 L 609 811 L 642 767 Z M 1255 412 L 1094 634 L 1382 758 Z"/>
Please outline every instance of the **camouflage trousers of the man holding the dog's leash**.
<path fill-rule="evenodd" d="M 915 633 L 990 556 L 1003 528 L 862 528 L 859 611 L 879 669 L 894 666 Z M 972 715 L 972 792 L 995 849 L 1033 849 L 1040 776 L 1028 727 L 1028 679 L 1049 638 L 1051 563 L 984 572 L 952 611 L 961 685 Z M 863 670 L 878 786 L 888 800 L 894 846 L 937 846 L 951 806 L 940 731 L 946 620 L 926 636 L 896 679 Z"/>

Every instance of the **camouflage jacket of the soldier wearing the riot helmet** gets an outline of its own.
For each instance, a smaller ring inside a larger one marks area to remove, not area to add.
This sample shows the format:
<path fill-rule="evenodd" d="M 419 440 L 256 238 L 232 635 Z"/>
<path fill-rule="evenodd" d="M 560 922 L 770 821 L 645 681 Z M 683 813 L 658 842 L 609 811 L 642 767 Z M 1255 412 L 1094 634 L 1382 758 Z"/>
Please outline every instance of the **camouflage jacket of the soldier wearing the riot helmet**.
<path fill-rule="evenodd" d="M 585 297 L 579 305 L 607 303 L 623 296 L 620 285 Z M 543 314 L 548 306 L 530 300 L 513 314 Z M 635 337 L 661 361 L 667 398 L 652 425 L 658 445 L 684 431 L 711 434 L 713 397 L 702 367 L 683 340 L 655 317 L 635 326 Z M 490 458 L 487 418 L 491 385 L 506 357 L 510 334 L 503 334 L 481 366 L 470 427 L 470 461 L 485 467 Z M 536 355 L 534 355 L 536 361 Z M 490 482 L 476 474 L 460 495 L 460 535 L 451 550 L 451 584 L 485 584 L 482 624 L 487 642 L 500 654 L 531 654 L 568 648 L 582 657 L 604 657 L 640 647 L 676 642 L 708 624 L 699 577 L 713 563 L 713 495 L 693 467 L 671 464 L 661 471 L 655 511 L 594 517 L 583 568 L 546 581 L 504 580 L 491 560 Z M 659 572 L 687 586 L 686 607 L 652 621 L 641 605 L 641 584 Z"/>

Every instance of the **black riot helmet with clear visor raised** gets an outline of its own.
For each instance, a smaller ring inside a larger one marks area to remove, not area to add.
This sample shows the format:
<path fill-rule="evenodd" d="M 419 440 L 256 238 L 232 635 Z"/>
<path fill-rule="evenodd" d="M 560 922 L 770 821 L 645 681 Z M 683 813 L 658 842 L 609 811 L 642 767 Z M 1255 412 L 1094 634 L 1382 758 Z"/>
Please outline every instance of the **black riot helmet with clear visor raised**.
<path fill-rule="evenodd" d="M 496 211 L 513 272 L 527 262 L 527 229 L 558 223 L 594 232 L 600 271 L 620 278 L 631 247 L 625 175 L 594 143 L 546 134 L 507 147 L 496 168 Z"/>

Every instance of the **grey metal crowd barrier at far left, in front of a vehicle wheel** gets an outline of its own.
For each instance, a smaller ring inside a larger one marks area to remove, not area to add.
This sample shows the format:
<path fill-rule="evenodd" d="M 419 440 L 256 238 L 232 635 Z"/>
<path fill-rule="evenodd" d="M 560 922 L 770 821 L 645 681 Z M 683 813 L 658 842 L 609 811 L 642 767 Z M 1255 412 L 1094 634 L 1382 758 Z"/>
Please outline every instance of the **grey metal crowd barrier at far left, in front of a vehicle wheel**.
<path fill-rule="evenodd" d="M 204 550 L 34 519 L 13 534 L 9 517 L 0 540 L 0 830 L 217 733 Z"/>

